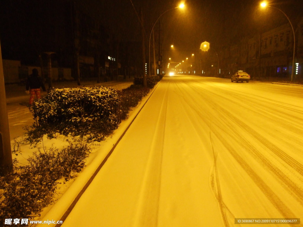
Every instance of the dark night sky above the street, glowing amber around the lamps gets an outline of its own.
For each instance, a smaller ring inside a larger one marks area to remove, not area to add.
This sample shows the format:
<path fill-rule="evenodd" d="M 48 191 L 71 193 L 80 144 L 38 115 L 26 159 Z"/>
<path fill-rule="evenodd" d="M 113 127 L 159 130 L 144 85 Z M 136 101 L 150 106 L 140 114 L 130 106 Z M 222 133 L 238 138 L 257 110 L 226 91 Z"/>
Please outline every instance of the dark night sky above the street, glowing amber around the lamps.
<path fill-rule="evenodd" d="M 83 12 L 101 21 L 120 41 L 141 40 L 135 9 L 138 13 L 140 8 L 143 9 L 145 34 L 149 37 L 151 27 L 158 16 L 180 3 L 176 0 L 132 0 L 134 9 L 131 0 L 75 1 Z M 212 47 L 218 49 L 245 35 L 258 34 L 261 30 L 288 23 L 281 12 L 272 8 L 260 9 L 258 0 L 185 0 L 184 3 L 184 9 L 170 10 L 160 18 L 164 50 L 174 44 L 180 51 L 198 51 L 199 44 L 203 41 L 209 41 Z M 298 18 L 303 16 L 302 0 L 276 0 L 271 4 L 282 9 L 294 27 Z M 32 45 L 31 36 L 38 35 L 39 31 L 43 30 L 43 21 L 54 19 L 49 34 L 40 34 L 42 38 L 52 35 L 52 26 L 62 26 L 60 20 L 68 20 L 64 10 L 58 6 L 58 1 L 51 0 L 1 0 L 0 13 L 1 44 L 13 46 L 11 49 L 18 46 L 13 41 L 15 35 L 24 36 L 25 42 L 22 45 Z M 66 36 L 70 32 L 70 28 L 66 28 Z M 158 26 L 155 26 L 155 35 L 158 36 L 157 34 Z"/>

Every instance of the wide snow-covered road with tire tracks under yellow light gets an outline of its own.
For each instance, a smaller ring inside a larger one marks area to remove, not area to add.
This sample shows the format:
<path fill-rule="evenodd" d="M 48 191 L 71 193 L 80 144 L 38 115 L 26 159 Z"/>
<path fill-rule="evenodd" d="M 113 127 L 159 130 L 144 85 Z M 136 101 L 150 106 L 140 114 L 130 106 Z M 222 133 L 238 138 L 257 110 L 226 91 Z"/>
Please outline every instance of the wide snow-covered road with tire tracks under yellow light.
<path fill-rule="evenodd" d="M 302 220 L 302 139 L 303 87 L 164 77 L 62 226 Z"/>

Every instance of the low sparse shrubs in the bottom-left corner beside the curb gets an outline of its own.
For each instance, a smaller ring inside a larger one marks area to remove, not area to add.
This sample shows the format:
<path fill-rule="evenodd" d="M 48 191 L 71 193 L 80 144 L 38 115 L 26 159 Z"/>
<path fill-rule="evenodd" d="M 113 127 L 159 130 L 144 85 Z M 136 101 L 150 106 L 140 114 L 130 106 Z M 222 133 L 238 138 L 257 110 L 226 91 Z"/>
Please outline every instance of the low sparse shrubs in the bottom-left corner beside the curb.
<path fill-rule="evenodd" d="M 26 166 L 19 166 L 14 159 L 12 173 L 0 176 L 0 223 L 8 218 L 31 220 L 40 216 L 42 209 L 53 202 L 58 180 L 68 180 L 79 172 L 90 150 L 88 143 L 76 140 L 62 150 L 39 150 Z"/>

